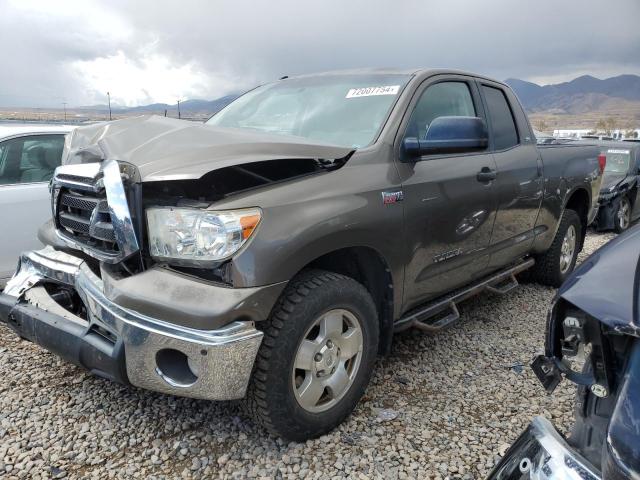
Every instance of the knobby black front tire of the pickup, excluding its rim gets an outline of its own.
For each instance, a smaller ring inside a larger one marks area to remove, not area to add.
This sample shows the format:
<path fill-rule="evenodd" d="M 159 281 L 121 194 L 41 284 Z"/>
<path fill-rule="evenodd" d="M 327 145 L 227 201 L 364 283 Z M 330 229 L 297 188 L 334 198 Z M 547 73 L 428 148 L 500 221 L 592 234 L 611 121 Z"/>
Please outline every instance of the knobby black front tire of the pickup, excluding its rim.
<path fill-rule="evenodd" d="M 359 366 L 343 396 L 335 399 L 337 403 L 328 410 L 311 412 L 296 398 L 294 362 L 309 329 L 324 313 L 336 309 L 348 311 L 359 322 Z M 245 401 L 248 413 L 270 433 L 288 440 L 305 441 L 333 430 L 353 411 L 371 379 L 379 332 L 369 292 L 344 275 L 324 270 L 303 272 L 287 286 L 262 329 L 264 339 Z"/>

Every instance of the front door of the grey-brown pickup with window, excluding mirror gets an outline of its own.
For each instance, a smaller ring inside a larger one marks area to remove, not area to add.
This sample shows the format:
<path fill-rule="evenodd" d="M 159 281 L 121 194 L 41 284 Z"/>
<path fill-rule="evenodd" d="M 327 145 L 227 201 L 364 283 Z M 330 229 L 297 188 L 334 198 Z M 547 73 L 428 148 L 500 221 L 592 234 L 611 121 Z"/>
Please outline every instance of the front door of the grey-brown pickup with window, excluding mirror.
<path fill-rule="evenodd" d="M 424 139 L 431 122 L 443 116 L 483 117 L 474 80 L 437 76 L 417 89 L 397 137 Z M 398 157 L 399 158 L 399 157 Z M 493 155 L 482 151 L 424 155 L 397 162 L 404 193 L 407 241 L 404 308 L 410 309 L 480 276 L 497 202 Z"/>

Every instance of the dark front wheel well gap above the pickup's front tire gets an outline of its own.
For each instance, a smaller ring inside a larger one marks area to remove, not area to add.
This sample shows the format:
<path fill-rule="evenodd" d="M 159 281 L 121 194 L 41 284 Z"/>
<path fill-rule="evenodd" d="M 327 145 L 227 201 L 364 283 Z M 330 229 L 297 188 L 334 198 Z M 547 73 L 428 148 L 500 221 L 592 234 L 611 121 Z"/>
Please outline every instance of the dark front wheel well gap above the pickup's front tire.
<path fill-rule="evenodd" d="M 393 278 L 384 258 L 369 247 L 349 247 L 327 253 L 305 266 L 340 273 L 364 285 L 378 310 L 378 352 L 389 353 L 393 336 Z"/>

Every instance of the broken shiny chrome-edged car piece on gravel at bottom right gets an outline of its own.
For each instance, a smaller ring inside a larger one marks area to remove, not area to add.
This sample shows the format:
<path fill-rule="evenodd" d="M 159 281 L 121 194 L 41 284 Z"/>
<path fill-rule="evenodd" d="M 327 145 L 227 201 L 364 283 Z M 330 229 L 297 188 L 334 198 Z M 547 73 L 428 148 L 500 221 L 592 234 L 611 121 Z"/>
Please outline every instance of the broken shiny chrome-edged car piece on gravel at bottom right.
<path fill-rule="evenodd" d="M 547 419 L 536 417 L 488 479 L 600 480 L 601 476 Z"/>

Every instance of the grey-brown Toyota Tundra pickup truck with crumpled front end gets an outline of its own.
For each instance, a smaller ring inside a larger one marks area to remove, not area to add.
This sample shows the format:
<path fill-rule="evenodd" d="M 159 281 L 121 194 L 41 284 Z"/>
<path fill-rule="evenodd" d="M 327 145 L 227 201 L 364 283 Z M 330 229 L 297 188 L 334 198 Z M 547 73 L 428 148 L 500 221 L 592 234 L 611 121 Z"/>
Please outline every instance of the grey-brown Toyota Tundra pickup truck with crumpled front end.
<path fill-rule="evenodd" d="M 559 286 L 605 166 L 536 146 L 506 85 L 445 70 L 282 79 L 204 125 L 118 120 L 65 149 L 0 319 L 102 377 L 246 397 L 293 440 L 349 415 L 394 331 L 442 329 L 527 269 Z"/>

